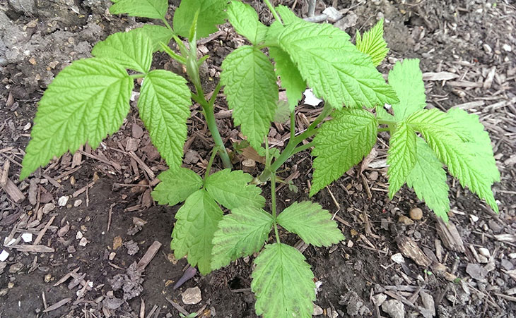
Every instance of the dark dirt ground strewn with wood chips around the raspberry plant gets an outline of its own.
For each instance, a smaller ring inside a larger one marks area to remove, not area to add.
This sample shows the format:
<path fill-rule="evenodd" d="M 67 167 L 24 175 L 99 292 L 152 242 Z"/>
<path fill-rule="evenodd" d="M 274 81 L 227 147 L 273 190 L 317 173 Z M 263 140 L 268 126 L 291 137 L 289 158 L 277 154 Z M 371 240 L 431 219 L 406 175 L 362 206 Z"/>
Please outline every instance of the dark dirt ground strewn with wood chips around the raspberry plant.
<path fill-rule="evenodd" d="M 299 16 L 307 14 L 303 0 L 275 2 Z M 37 101 L 54 75 L 71 61 L 90 56 L 93 45 L 112 32 L 148 22 L 111 16 L 108 3 L 0 0 L 0 177 L 6 173 L 7 178 L 0 190 L 0 252 L 8 253 L 0 262 L 0 317 L 161 318 L 180 317 L 180 312 L 255 317 L 253 257 L 208 276 L 196 274 L 173 288 L 187 270 L 186 260 L 175 259 L 168 247 L 178 207 L 159 206 L 150 196 L 156 176 L 167 168 L 142 129 L 136 102 L 131 102 L 119 132 L 99 149 L 84 147 L 66 154 L 18 181 Z M 270 23 L 266 7 L 260 1 L 250 3 L 263 22 Z M 170 1 L 171 13 L 176 5 Z M 452 178 L 448 227 L 411 190 L 405 188 L 389 201 L 388 138 L 380 135 L 376 156 L 363 164 L 362 173 L 360 167 L 352 169 L 314 197 L 336 215 L 346 240 L 315 248 L 303 246 L 294 236 L 283 238 L 302 250 L 312 265 L 319 286 L 317 314 L 515 317 L 515 4 L 324 0 L 317 1 L 316 15 L 327 6 L 343 13 L 335 25 L 350 35 L 385 18 L 390 52 L 380 71 L 387 74 L 402 58 L 421 59 L 428 107 L 459 107 L 479 115 L 501 172 L 501 182 L 493 186 L 500 214 Z M 199 49 L 211 55 L 201 69 L 207 92 L 218 81 L 223 58 L 242 43 L 229 25 L 201 41 Z M 165 54 L 156 54 L 153 67 L 182 73 Z M 223 98 L 217 107 L 218 125 L 230 147 L 241 135 L 231 127 Z M 301 103 L 300 129 L 319 111 Z M 184 164 L 201 173 L 211 136 L 197 105 L 188 124 Z M 276 124 L 269 143 L 281 147 L 287 136 L 288 124 Z M 299 191 L 281 187 L 279 209 L 307 199 L 311 160 L 310 153 L 303 152 L 287 162 L 281 177 Z M 269 188 L 263 192 L 269 196 Z M 416 207 L 423 210 L 422 219 L 409 217 Z M 413 257 L 406 256 L 410 252 Z M 182 293 L 195 292 L 187 288 L 196 286 L 201 300 L 186 305 Z"/>

